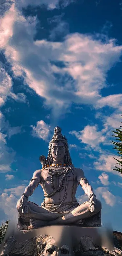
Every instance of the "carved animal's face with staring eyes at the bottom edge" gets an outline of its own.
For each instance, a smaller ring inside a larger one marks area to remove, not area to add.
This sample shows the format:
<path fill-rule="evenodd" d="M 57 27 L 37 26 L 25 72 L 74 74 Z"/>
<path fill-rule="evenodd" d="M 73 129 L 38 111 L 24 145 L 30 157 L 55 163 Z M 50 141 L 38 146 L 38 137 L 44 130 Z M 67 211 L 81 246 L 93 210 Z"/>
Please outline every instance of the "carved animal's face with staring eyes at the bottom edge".
<path fill-rule="evenodd" d="M 62 245 L 60 248 L 55 245 L 55 241 L 52 240 L 47 243 L 44 251 L 44 256 L 69 256 L 68 245 Z"/>

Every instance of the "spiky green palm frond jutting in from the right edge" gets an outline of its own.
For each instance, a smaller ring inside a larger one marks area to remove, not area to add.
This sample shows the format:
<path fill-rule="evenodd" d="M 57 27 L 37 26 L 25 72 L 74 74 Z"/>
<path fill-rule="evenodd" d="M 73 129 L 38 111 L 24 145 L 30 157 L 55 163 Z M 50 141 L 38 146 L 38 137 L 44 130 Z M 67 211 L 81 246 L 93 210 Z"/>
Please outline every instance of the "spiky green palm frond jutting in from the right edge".
<path fill-rule="evenodd" d="M 120 165 L 120 167 L 122 167 L 122 126 L 120 126 L 120 129 L 115 129 L 114 131 L 115 135 L 112 135 L 113 137 L 115 137 L 116 141 L 111 141 L 112 144 L 114 144 L 114 149 L 117 150 L 118 156 L 119 156 L 119 160 L 114 158 L 115 160 L 117 160 L 117 164 Z M 118 171 L 120 173 L 122 173 L 122 168 L 115 166 L 116 169 L 113 169 L 115 171 Z"/>

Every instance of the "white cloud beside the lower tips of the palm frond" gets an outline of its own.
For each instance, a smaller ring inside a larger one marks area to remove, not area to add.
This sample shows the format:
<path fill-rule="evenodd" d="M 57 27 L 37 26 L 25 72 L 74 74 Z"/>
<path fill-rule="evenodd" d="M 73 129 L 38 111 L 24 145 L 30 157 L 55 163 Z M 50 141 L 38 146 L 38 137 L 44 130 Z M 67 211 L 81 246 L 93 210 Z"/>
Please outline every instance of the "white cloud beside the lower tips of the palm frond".
<path fill-rule="evenodd" d="M 98 171 L 105 171 L 105 172 L 111 172 L 115 175 L 121 176 L 121 174 L 118 171 L 114 171 L 112 169 L 115 169 L 115 165 L 117 164 L 117 161 L 114 159 L 114 157 L 117 159 L 118 157 L 116 155 L 112 154 L 101 154 L 99 159 L 94 162 L 94 167 Z"/>

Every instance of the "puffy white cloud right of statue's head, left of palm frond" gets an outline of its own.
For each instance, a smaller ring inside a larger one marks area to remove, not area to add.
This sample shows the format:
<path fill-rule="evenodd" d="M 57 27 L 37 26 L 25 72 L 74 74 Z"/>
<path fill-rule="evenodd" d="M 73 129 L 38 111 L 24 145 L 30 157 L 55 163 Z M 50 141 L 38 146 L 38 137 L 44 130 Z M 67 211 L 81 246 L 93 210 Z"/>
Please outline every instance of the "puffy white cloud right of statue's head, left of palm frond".
<path fill-rule="evenodd" d="M 103 133 L 106 132 L 106 129 L 102 131 L 97 131 L 97 126 L 87 125 L 84 127 L 82 131 L 71 131 L 69 132 L 71 135 L 75 135 L 80 142 L 88 144 L 92 148 L 98 146 L 101 142 L 105 141 L 105 136 Z"/>

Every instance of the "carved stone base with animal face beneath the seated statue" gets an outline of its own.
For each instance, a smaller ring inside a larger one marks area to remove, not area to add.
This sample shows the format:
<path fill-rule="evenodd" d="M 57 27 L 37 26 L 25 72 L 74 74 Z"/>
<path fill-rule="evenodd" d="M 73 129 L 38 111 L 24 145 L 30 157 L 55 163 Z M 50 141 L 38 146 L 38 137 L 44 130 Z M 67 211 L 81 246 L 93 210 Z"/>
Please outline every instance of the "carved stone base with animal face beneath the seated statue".
<path fill-rule="evenodd" d="M 15 231 L 10 225 L 0 246 L 0 256 L 122 256 L 122 233 L 100 229 L 48 226 Z"/>

